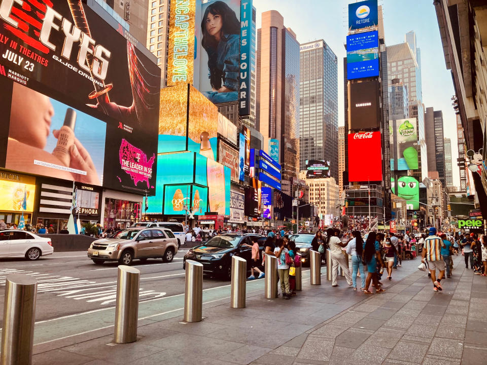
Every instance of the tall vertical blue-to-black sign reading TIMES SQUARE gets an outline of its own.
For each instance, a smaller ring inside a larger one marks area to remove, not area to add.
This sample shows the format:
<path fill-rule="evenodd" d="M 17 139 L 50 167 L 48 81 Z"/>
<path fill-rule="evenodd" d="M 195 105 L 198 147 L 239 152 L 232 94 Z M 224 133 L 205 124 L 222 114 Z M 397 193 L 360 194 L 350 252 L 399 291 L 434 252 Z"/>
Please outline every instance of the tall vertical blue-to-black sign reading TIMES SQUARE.
<path fill-rule="evenodd" d="M 240 75 L 238 81 L 238 115 L 250 115 L 250 81 L 252 52 L 252 0 L 240 0 Z"/>

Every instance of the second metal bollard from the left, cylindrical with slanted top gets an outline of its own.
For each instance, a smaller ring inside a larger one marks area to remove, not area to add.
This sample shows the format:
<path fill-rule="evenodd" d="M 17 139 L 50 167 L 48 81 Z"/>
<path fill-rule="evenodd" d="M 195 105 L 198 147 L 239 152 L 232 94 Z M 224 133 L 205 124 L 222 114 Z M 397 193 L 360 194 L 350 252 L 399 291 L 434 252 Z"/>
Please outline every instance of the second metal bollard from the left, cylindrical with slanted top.
<path fill-rule="evenodd" d="M 141 272 L 126 265 L 118 267 L 115 305 L 115 343 L 137 341 L 138 291 Z"/>

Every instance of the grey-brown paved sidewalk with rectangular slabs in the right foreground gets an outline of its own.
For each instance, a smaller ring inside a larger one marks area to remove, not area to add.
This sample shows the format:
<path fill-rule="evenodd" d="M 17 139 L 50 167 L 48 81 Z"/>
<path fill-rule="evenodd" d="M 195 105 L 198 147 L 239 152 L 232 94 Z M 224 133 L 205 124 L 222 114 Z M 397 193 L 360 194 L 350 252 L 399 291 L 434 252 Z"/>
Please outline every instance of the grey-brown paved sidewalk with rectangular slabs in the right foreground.
<path fill-rule="evenodd" d="M 292 300 L 262 291 L 244 309 L 228 299 L 206 304 L 198 323 L 170 313 L 140 320 L 132 344 L 113 344 L 109 328 L 36 345 L 33 363 L 478 365 L 487 359 L 486 278 L 465 270 L 463 257 L 454 261 L 441 293 L 416 269 L 419 259 L 403 261 L 383 280 L 384 294 L 354 292 L 344 278 L 332 288 L 325 275 L 322 285 L 303 282 Z"/>

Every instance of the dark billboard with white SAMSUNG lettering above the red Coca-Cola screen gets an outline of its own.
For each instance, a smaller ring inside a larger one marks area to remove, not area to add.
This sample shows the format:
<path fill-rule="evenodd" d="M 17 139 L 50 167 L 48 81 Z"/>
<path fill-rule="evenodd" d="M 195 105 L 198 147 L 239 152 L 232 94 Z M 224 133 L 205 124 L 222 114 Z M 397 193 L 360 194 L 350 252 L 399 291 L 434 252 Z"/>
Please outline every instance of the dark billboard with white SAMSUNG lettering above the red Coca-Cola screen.
<path fill-rule="evenodd" d="M 350 84 L 350 129 L 379 128 L 382 120 L 379 94 L 377 80 Z"/>

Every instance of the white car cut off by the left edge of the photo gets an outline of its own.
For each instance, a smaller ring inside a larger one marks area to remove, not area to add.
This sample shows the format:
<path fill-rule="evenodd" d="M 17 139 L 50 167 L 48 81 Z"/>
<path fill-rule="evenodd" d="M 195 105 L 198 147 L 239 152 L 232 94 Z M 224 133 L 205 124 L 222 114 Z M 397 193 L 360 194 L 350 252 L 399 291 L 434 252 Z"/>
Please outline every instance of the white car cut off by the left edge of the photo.
<path fill-rule="evenodd" d="M 24 257 L 28 260 L 38 260 L 41 256 L 53 252 L 50 238 L 22 230 L 0 231 L 0 258 Z"/>

